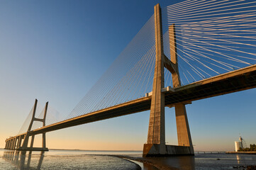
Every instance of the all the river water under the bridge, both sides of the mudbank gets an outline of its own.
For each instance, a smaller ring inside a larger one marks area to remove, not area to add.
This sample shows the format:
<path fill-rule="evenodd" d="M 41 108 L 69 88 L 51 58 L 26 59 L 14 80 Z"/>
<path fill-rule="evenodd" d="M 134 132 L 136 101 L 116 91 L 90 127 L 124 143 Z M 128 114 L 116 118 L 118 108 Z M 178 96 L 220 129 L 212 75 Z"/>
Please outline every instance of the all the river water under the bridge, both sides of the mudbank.
<path fill-rule="evenodd" d="M 123 155 L 128 159 L 115 157 Z M 135 160 L 135 161 L 134 161 Z M 140 162 L 138 162 L 140 161 Z M 141 163 L 144 162 L 144 163 Z M 149 164 L 148 164 L 149 163 Z M 154 165 L 154 166 L 152 166 Z M 0 169 L 245 169 L 255 154 L 196 154 L 194 157 L 142 158 L 142 152 L 50 150 L 14 152 L 0 149 Z M 235 167 L 235 168 L 234 168 Z"/>

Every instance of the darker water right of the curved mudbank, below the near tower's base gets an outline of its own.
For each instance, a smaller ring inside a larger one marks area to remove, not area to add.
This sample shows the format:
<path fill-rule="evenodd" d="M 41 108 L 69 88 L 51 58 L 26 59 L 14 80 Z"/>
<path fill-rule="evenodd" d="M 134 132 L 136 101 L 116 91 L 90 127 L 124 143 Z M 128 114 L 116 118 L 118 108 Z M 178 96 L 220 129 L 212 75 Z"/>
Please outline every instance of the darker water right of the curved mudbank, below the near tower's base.
<path fill-rule="evenodd" d="M 256 154 L 195 154 L 194 157 L 147 158 L 159 169 L 226 170 L 256 165 Z"/>

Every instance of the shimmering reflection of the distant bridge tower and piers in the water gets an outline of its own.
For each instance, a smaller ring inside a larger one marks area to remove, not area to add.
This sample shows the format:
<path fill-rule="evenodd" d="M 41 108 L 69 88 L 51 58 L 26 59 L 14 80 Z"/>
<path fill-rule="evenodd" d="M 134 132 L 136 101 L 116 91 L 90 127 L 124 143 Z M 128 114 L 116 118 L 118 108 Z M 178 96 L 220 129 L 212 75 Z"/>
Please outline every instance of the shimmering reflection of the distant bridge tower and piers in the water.
<path fill-rule="evenodd" d="M 4 159 L 6 162 L 9 162 L 16 166 L 18 169 L 40 169 L 43 163 L 43 158 L 45 157 L 45 152 L 40 152 L 40 157 L 38 159 L 37 166 L 30 166 L 32 151 L 5 151 Z M 35 168 L 36 167 L 36 168 Z"/>

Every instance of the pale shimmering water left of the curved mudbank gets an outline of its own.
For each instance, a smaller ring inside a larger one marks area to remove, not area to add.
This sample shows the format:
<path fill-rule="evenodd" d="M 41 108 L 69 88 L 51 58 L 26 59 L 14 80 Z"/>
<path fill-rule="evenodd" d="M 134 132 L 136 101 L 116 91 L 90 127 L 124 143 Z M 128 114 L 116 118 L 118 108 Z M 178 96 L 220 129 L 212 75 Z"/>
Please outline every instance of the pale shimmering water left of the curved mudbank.
<path fill-rule="evenodd" d="M 0 150 L 0 169 L 140 169 L 126 159 L 107 156 L 121 152 L 67 151 L 16 152 Z M 131 154 L 133 152 L 123 152 Z"/>

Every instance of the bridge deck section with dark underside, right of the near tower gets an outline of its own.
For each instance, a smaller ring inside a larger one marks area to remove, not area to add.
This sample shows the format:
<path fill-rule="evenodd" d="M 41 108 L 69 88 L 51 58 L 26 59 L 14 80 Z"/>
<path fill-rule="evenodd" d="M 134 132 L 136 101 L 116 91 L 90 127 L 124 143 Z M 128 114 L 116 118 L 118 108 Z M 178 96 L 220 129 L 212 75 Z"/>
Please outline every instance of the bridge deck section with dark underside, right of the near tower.
<path fill-rule="evenodd" d="M 165 104 L 172 106 L 174 103 L 186 103 L 255 87 L 256 66 L 254 65 L 179 87 L 174 92 L 165 94 Z"/>

